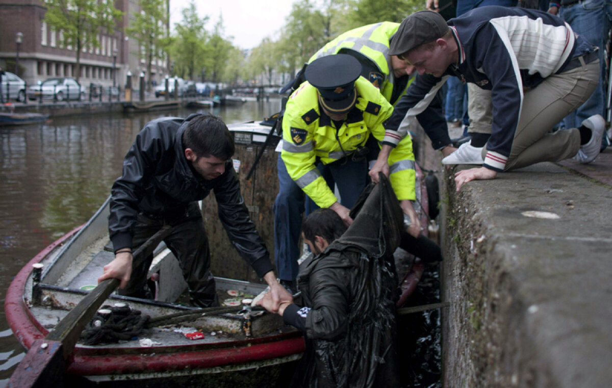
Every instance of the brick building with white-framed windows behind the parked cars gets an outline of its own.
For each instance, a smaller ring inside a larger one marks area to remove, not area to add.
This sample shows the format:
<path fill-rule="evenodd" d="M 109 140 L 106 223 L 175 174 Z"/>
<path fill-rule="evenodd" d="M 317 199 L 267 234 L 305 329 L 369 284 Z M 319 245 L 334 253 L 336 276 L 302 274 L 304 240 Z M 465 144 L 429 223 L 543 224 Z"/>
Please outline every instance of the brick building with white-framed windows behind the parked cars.
<path fill-rule="evenodd" d="M 81 50 L 80 83 L 110 86 L 113 84 L 113 62 L 116 84 L 125 85 L 128 71 L 136 77 L 146 70 L 140 59 L 140 47 L 136 40 L 125 34 L 130 15 L 140 12 L 137 0 L 116 0 L 115 7 L 124 12 L 124 17 L 115 26 L 115 31 L 100 31 L 100 48 L 86 47 Z M 23 34 L 19 45 L 20 76 L 28 85 L 55 76 L 76 78 L 75 48 L 62 46 L 62 31 L 54 31 L 44 21 L 47 7 L 41 0 L 0 0 L 0 65 L 2 69 L 15 72 L 17 57 L 16 36 Z M 165 63 L 158 61 L 152 67 L 152 80 L 159 84 L 165 74 Z"/>

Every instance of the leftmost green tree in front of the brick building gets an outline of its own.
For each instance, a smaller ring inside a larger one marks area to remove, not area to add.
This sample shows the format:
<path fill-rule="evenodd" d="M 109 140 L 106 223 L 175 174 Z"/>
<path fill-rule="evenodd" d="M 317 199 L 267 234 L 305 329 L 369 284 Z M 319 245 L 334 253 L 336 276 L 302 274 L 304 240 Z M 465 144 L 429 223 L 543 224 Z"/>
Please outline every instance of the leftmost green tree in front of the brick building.
<path fill-rule="evenodd" d="M 81 51 L 100 47 L 100 31 L 111 34 L 123 13 L 111 0 L 45 0 L 45 21 L 56 31 L 62 31 L 61 44 L 76 49 L 76 81 L 81 76 Z"/>

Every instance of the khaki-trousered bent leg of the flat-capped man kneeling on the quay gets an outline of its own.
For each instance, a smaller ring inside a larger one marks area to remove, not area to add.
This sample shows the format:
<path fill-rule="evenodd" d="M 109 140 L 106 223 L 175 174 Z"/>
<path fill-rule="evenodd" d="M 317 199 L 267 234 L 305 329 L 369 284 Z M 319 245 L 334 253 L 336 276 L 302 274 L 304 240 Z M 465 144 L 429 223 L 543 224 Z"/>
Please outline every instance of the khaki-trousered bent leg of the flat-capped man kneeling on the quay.
<path fill-rule="evenodd" d="M 586 101 L 599 82 L 599 62 L 551 75 L 525 92 L 521 118 L 504 171 L 538 162 L 558 162 L 577 154 L 578 129 L 550 130 Z M 483 154 L 485 151 L 483 151 Z"/>

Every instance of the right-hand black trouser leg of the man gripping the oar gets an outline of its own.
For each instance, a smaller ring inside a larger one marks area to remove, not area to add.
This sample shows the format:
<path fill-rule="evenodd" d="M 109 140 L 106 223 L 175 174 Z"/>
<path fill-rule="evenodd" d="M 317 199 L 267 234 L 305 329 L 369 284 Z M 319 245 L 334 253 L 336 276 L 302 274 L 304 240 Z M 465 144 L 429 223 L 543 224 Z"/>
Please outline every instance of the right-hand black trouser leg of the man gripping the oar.
<path fill-rule="evenodd" d="M 189 288 L 189 299 L 196 307 L 219 305 L 211 274 L 211 252 L 200 208 L 192 203 L 187 217 L 171 224 L 172 233 L 164 241 L 181 265 Z"/>

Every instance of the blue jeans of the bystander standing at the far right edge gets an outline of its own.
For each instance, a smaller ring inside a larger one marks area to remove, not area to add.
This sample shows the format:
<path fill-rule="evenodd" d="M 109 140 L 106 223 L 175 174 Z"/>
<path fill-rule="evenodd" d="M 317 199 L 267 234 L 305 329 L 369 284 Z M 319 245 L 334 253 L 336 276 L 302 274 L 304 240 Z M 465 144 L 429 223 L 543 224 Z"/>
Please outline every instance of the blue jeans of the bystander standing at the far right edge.
<path fill-rule="evenodd" d="M 612 20 L 612 1 L 606 0 L 584 0 L 571 6 L 561 7 L 558 16 L 567 22 L 578 35 L 582 35 L 592 45 L 599 47 L 599 64 L 601 76 L 595 91 L 583 105 L 570 113 L 563 119 L 566 129 L 580 127 L 584 119 L 594 114 L 605 117 L 604 108 L 604 73 L 605 60 L 603 58 L 603 46 L 607 31 Z"/>

